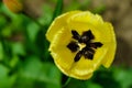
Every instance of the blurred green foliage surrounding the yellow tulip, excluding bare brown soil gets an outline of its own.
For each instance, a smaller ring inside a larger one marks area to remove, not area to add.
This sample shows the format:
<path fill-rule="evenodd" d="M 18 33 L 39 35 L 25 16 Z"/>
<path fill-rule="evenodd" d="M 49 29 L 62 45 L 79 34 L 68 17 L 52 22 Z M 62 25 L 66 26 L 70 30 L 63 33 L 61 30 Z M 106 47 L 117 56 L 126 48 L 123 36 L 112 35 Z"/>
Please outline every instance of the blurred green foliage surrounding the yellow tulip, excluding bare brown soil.
<path fill-rule="evenodd" d="M 51 0 L 52 7 L 35 22 L 23 14 L 11 13 L 0 2 L 0 88 L 63 88 L 68 77 L 54 65 L 50 56 L 45 32 L 53 19 L 63 11 L 85 10 L 90 0 L 80 4 L 76 0 L 63 10 L 63 0 Z M 101 13 L 105 6 L 91 10 Z M 64 88 L 132 88 L 132 68 L 100 67 L 89 80 L 70 79 Z"/>

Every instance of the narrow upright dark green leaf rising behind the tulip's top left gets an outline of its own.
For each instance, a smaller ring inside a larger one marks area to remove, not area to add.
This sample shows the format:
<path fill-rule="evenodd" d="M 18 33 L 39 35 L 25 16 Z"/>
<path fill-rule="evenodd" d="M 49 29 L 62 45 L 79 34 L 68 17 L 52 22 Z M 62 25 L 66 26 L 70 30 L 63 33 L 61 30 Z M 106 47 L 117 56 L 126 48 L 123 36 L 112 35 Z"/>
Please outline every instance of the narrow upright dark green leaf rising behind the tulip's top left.
<path fill-rule="evenodd" d="M 63 11 L 63 0 L 57 0 L 57 4 L 53 14 L 53 20 L 58 16 Z"/>

